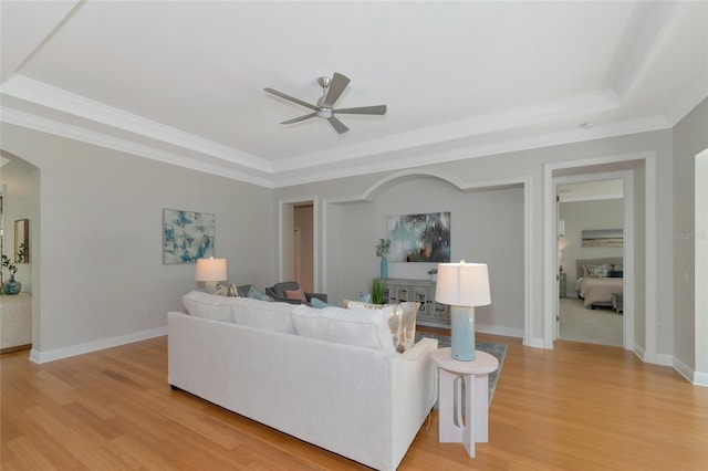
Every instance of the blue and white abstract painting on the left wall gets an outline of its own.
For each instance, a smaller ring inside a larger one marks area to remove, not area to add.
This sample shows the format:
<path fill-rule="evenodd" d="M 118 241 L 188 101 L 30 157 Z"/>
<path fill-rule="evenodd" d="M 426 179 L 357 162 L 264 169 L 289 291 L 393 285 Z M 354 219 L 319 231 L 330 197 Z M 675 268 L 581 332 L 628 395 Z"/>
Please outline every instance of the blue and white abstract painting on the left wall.
<path fill-rule="evenodd" d="M 214 257 L 214 214 L 163 209 L 163 263 Z"/>

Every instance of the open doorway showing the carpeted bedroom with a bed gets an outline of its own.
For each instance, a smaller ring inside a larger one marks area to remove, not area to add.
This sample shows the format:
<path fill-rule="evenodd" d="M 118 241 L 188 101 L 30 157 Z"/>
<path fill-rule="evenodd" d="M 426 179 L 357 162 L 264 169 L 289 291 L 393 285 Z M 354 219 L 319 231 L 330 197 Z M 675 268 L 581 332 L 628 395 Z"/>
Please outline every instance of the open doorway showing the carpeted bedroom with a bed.
<path fill-rule="evenodd" d="M 556 338 L 624 345 L 624 193 L 621 175 L 556 179 Z M 586 266 L 596 269 L 589 273 Z"/>

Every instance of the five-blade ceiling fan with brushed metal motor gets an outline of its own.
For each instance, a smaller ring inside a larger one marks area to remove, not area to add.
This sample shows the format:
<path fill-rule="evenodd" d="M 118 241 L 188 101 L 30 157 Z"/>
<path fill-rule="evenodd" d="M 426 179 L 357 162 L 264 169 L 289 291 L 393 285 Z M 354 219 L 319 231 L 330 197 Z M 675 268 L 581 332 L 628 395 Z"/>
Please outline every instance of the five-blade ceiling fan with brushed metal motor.
<path fill-rule="evenodd" d="M 312 105 L 308 102 L 303 102 L 302 100 L 294 98 L 290 95 L 285 95 L 282 92 L 278 92 L 273 88 L 263 88 L 268 93 L 272 93 L 275 96 L 280 96 L 281 98 L 285 98 L 290 102 L 296 103 L 305 108 L 310 108 L 313 112 L 306 115 L 284 121 L 280 124 L 293 124 L 299 123 L 301 121 L 310 119 L 312 117 L 320 117 L 322 119 L 326 119 L 330 122 L 332 127 L 336 129 L 337 133 L 344 134 L 350 130 L 348 127 L 344 125 L 335 115 L 385 115 L 386 114 L 386 105 L 376 105 L 376 106 L 360 106 L 356 108 L 339 108 L 334 109 L 334 104 L 348 85 L 350 80 L 335 72 L 332 78 L 330 77 L 320 77 L 317 78 L 317 83 L 322 87 L 322 96 L 317 100 L 316 105 Z"/>

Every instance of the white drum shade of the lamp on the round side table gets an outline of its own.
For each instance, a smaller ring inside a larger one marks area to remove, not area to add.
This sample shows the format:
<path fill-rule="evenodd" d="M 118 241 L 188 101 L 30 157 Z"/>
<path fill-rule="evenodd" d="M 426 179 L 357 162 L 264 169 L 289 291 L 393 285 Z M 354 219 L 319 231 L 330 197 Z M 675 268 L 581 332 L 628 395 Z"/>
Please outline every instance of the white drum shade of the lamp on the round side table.
<path fill-rule="evenodd" d="M 489 272 L 485 263 L 440 263 L 435 301 L 452 306 L 491 304 Z"/>

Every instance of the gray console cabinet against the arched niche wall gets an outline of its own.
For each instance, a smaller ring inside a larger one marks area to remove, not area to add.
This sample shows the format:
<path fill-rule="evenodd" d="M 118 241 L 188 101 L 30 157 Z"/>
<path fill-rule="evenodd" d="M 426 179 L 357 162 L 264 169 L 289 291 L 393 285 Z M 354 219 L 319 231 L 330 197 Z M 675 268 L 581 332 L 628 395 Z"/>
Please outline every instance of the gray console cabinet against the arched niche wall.
<path fill-rule="evenodd" d="M 416 280 L 387 278 L 384 280 L 384 303 L 396 304 L 406 301 L 420 303 L 416 323 L 434 327 L 450 326 L 450 308 L 446 304 L 435 302 L 435 282 L 433 280 Z"/>

